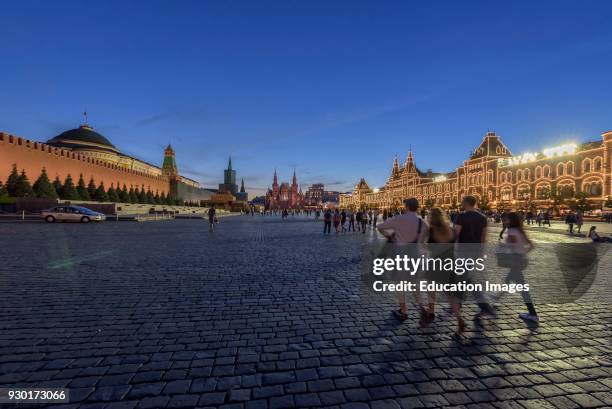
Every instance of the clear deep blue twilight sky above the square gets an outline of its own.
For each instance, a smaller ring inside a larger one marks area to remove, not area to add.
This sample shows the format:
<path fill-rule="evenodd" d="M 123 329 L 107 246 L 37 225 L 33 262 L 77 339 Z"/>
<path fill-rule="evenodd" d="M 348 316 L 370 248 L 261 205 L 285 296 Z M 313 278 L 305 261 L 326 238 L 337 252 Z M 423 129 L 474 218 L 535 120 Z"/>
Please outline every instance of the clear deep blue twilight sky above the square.
<path fill-rule="evenodd" d="M 89 122 L 122 151 L 247 190 L 276 167 L 352 188 L 412 147 L 447 171 L 493 129 L 515 153 L 612 129 L 611 1 L 14 1 L 0 130 Z M 305 186 L 304 186 L 305 187 Z"/>

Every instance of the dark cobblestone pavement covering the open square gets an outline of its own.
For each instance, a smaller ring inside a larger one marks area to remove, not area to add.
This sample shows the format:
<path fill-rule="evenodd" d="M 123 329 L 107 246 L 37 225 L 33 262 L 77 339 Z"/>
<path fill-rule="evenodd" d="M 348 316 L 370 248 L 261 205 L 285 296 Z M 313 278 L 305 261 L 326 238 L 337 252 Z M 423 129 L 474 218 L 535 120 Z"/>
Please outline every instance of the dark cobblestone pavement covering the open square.
<path fill-rule="evenodd" d="M 445 308 L 420 328 L 359 295 L 370 232 L 239 216 L 214 234 L 196 220 L 0 233 L 0 387 L 69 388 L 57 407 L 612 406 L 607 281 L 593 301 L 538 305 L 537 327 L 517 296 L 457 339 Z"/>

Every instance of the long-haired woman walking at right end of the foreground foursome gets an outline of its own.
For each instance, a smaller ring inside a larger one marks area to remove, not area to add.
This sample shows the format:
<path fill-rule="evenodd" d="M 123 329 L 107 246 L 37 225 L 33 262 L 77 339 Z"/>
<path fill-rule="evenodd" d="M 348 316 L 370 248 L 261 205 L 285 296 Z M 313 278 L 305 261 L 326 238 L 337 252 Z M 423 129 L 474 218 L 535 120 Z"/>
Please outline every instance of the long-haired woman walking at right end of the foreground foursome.
<path fill-rule="evenodd" d="M 527 253 L 533 250 L 533 243 L 527 237 L 523 227 L 523 219 L 516 212 L 508 214 L 508 236 L 506 237 L 505 247 L 510 251 L 511 267 L 506 276 L 506 284 L 524 284 L 525 277 L 523 270 L 527 267 Z M 520 313 L 519 317 L 526 321 L 538 322 L 538 313 L 533 306 L 533 301 L 529 291 L 521 291 L 523 301 L 527 306 L 527 313 Z"/>

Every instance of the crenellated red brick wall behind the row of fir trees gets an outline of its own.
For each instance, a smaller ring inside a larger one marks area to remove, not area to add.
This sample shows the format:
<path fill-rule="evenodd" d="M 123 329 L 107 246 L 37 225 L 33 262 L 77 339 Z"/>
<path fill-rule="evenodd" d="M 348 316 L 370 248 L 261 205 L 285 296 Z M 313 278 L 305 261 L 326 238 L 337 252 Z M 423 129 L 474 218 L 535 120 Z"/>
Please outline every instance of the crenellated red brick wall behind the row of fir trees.
<path fill-rule="evenodd" d="M 170 189 L 170 183 L 165 177 L 125 170 L 65 149 L 54 148 L 0 132 L 0 180 L 2 183 L 6 182 L 13 164 L 17 165 L 19 172 L 25 169 L 30 183 L 34 183 L 44 167 L 51 181 L 56 175 L 59 175 L 63 182 L 66 175 L 70 174 L 76 184 L 82 173 L 85 183 L 89 183 L 89 179 L 93 177 L 96 186 L 103 181 L 107 189 L 111 183 L 115 187 L 118 185 L 122 187 L 125 184 L 128 189 L 130 186 L 140 188 L 144 185 L 145 189 L 150 188 L 154 193 L 158 191 L 160 194 L 162 192 L 167 194 Z"/>

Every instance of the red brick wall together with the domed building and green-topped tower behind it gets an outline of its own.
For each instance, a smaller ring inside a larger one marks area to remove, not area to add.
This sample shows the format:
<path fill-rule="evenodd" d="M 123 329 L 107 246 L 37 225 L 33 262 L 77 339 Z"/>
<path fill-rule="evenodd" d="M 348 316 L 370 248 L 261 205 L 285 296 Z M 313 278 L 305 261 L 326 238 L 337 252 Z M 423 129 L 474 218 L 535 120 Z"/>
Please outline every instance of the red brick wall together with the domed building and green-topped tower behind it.
<path fill-rule="evenodd" d="M 30 183 L 45 168 L 49 179 L 56 176 L 74 180 L 82 174 L 85 181 L 93 178 L 108 188 L 138 187 L 153 193 L 171 195 L 184 201 L 209 200 L 213 191 L 179 175 L 174 151 L 168 146 L 162 168 L 121 154 L 105 137 L 88 125 L 66 131 L 41 143 L 0 132 L 0 181 L 6 181 L 13 165 L 25 170 Z"/>

